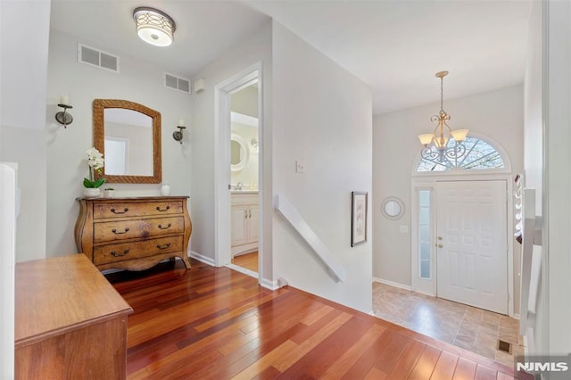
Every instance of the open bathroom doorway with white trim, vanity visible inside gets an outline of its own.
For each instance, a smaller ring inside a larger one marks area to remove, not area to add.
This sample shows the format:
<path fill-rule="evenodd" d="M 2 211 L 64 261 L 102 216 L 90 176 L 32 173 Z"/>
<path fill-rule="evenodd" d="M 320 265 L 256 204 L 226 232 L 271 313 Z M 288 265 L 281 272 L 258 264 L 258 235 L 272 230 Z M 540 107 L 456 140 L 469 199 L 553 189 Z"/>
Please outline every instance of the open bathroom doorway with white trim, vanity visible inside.
<path fill-rule="evenodd" d="M 254 260 L 261 268 L 263 245 L 258 238 L 263 230 L 258 219 L 263 210 L 261 99 L 261 62 L 215 87 L 215 263 L 257 278 L 260 278 L 259 269 L 233 263 L 233 258 L 237 253 L 255 252 Z M 249 130 L 244 134 L 240 129 L 252 127 L 248 124 L 253 120 L 257 124 L 255 132 Z"/>

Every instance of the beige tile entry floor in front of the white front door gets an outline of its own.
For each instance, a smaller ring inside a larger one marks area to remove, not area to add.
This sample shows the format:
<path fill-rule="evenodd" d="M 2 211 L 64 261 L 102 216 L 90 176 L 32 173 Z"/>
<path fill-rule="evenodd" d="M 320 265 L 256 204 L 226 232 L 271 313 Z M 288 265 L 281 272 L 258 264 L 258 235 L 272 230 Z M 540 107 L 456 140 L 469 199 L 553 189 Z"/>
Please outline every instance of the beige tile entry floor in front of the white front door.
<path fill-rule="evenodd" d="M 523 355 L 523 340 L 514 318 L 373 282 L 373 312 L 378 318 L 434 339 L 454 344 L 508 366 Z M 498 350 L 511 343 L 511 353 Z"/>

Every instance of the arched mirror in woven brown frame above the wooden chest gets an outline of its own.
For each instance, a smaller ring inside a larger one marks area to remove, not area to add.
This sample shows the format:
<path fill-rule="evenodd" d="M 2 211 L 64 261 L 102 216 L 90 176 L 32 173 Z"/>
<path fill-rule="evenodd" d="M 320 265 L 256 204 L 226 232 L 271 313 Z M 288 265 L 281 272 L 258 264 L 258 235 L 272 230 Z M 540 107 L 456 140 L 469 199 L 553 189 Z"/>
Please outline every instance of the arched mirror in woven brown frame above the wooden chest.
<path fill-rule="evenodd" d="M 93 101 L 93 139 L 109 183 L 160 184 L 161 113 L 117 99 Z"/>

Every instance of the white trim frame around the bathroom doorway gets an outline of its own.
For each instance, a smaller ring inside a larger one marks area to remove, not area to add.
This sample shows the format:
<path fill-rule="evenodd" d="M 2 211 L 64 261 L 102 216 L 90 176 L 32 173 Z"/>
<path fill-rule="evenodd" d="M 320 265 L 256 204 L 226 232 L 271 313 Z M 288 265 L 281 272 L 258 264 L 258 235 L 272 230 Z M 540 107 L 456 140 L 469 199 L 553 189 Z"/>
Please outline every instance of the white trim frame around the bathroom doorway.
<path fill-rule="evenodd" d="M 230 252 L 230 96 L 258 81 L 258 141 L 263 141 L 262 71 L 261 62 L 236 73 L 214 87 L 214 262 L 217 267 L 231 263 Z M 263 210 L 263 157 L 264 145 L 259 145 L 258 204 Z M 263 224 L 259 222 L 258 281 L 262 268 Z"/>

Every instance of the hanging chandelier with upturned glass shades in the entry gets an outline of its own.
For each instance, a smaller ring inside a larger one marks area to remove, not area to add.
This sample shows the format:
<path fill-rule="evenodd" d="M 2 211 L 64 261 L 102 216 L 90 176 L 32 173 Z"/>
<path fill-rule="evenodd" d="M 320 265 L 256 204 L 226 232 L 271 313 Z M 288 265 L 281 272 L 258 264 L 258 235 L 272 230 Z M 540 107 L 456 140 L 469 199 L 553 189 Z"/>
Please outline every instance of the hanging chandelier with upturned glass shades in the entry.
<path fill-rule="evenodd" d="M 443 109 L 443 81 L 448 75 L 448 71 L 439 71 L 436 77 L 440 78 L 440 112 L 430 118 L 430 121 L 437 123 L 433 133 L 418 135 L 420 144 L 424 145 L 421 155 L 425 160 L 430 161 L 457 161 L 466 154 L 466 147 L 462 144 L 468 135 L 468 129 L 451 130 L 447 121 L 450 114 Z M 449 146 L 452 139 L 454 144 Z"/>

